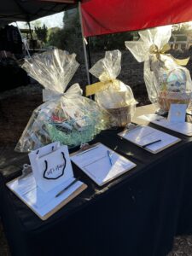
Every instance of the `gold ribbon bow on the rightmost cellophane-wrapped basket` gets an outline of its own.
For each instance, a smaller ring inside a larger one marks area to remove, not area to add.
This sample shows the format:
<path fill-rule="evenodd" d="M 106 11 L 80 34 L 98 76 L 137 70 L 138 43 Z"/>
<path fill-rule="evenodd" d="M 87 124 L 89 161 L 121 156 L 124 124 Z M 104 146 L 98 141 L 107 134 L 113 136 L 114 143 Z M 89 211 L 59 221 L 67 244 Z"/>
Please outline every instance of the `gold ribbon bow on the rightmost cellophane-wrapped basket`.
<path fill-rule="evenodd" d="M 160 55 L 166 55 L 166 51 L 169 49 L 171 49 L 169 44 L 165 44 L 161 49 L 159 49 L 156 44 L 152 44 L 149 47 L 149 53 L 151 55 L 156 55 L 157 59 L 160 60 Z M 179 60 L 174 58 L 172 55 L 170 55 L 170 57 L 172 58 L 173 61 L 177 63 L 177 65 L 180 65 L 180 66 L 186 66 L 189 61 L 189 58 Z"/>

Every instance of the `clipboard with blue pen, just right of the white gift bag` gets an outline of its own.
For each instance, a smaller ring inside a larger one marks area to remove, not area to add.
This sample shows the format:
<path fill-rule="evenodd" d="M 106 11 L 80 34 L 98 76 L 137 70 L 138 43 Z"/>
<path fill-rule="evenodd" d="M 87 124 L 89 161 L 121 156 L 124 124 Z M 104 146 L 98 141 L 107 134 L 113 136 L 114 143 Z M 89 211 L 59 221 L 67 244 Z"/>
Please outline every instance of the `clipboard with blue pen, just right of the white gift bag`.
<path fill-rule="evenodd" d="M 110 182 L 137 166 L 102 143 L 79 150 L 71 154 L 70 158 L 98 186 Z"/>

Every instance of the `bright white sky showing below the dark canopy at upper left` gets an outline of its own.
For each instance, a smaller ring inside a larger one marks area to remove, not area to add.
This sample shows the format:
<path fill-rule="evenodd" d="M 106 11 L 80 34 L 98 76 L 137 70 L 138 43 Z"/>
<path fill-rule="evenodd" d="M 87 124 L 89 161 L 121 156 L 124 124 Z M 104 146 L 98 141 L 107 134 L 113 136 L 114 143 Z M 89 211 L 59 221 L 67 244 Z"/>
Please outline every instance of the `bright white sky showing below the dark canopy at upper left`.
<path fill-rule="evenodd" d="M 62 27 L 63 26 L 62 19 L 63 19 L 63 12 L 55 15 L 49 15 L 44 18 L 40 18 L 38 20 L 41 21 L 42 26 L 45 24 L 49 28 L 49 27 L 55 27 L 55 26 Z M 26 22 L 18 21 L 17 24 L 20 28 L 26 28 Z"/>

